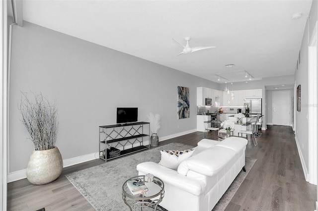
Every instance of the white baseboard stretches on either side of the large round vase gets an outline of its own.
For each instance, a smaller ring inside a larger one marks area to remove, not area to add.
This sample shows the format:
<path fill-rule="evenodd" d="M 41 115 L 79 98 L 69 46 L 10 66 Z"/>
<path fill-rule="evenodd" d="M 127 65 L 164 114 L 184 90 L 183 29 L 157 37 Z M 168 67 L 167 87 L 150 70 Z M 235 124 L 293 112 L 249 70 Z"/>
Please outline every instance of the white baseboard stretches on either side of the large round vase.
<path fill-rule="evenodd" d="M 97 158 L 98 158 L 98 152 L 91 153 L 91 154 L 84 155 L 84 156 L 79 156 L 76 158 L 64 159 L 63 160 L 63 167 L 79 164 L 79 163 L 86 162 L 86 161 L 93 160 L 93 159 L 97 159 Z M 17 181 L 20 179 L 25 179 L 25 178 L 26 178 L 26 169 L 14 171 L 14 172 L 7 174 L 7 183 L 14 182 L 14 181 Z"/>

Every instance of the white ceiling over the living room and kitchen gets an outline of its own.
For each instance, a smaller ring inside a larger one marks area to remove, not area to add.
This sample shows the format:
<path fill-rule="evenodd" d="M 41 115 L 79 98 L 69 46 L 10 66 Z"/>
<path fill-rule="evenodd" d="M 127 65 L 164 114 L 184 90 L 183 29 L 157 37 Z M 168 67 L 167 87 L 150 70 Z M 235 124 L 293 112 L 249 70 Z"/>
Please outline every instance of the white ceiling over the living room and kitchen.
<path fill-rule="evenodd" d="M 311 4 L 312 0 L 23 0 L 23 20 L 224 83 L 216 74 L 231 82 L 245 80 L 244 70 L 254 79 L 294 74 Z M 293 20 L 300 12 L 303 16 Z M 182 47 L 172 38 L 185 45 L 187 36 L 190 47 L 217 48 L 176 56 Z"/>

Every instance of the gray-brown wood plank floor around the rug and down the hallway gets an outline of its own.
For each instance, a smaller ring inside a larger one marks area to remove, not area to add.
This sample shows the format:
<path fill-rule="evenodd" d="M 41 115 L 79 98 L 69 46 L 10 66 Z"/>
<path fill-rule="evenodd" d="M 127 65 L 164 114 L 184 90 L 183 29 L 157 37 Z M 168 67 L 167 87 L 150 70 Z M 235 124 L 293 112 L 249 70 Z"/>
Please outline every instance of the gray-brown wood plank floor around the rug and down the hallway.
<path fill-rule="evenodd" d="M 248 143 L 246 157 L 256 158 L 226 211 L 313 211 L 317 187 L 305 181 L 291 127 L 268 126 L 257 139 L 258 146 Z M 212 134 L 209 133 L 208 137 Z M 202 132 L 159 142 L 159 146 L 179 142 L 196 146 Z M 8 183 L 9 211 L 93 211 L 93 207 L 69 182 L 65 174 L 103 163 L 96 159 L 66 167 L 62 175 L 46 185 L 33 185 L 22 179 Z"/>

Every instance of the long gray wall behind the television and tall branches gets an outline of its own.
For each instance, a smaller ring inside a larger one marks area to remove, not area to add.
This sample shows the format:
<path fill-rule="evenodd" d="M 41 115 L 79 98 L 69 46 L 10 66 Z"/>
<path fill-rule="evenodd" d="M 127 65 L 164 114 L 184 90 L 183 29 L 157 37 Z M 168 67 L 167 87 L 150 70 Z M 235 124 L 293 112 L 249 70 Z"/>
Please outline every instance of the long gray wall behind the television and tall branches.
<path fill-rule="evenodd" d="M 25 169 L 34 149 L 20 122 L 20 91 L 42 92 L 56 101 L 56 145 L 68 159 L 98 151 L 98 126 L 116 123 L 116 107 L 138 107 L 139 121 L 159 113 L 159 137 L 165 137 L 196 129 L 197 87 L 219 89 L 214 82 L 28 22 L 12 28 L 9 172 Z M 190 118 L 177 119 L 177 86 L 190 89 Z"/>

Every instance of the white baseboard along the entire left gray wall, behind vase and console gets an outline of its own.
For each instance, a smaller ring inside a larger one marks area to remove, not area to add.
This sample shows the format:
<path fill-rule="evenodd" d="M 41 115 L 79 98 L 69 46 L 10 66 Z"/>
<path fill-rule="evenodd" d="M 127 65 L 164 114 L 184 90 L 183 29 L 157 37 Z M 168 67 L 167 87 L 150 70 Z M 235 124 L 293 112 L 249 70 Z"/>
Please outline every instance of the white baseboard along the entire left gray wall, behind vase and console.
<path fill-rule="evenodd" d="M 197 129 L 193 129 L 193 130 L 188 130 L 188 131 L 184 131 L 184 132 L 181 132 L 181 133 L 172 134 L 172 135 L 169 135 L 169 136 L 159 137 L 159 141 L 164 141 L 164 140 L 167 140 L 167 139 L 171 139 L 171 138 L 175 138 L 175 137 L 178 137 L 178 136 L 186 135 L 186 134 L 193 133 L 193 132 L 196 132 L 196 131 L 197 131 Z M 96 153 L 91 153 L 91 154 L 88 154 L 88 155 L 83 155 L 83 156 L 79 156 L 79 157 L 75 157 L 75 158 L 64 159 L 63 160 L 63 167 L 76 165 L 76 164 L 79 164 L 79 163 L 82 163 L 82 162 L 86 162 L 86 161 L 93 160 L 93 159 L 98 159 L 98 158 L 99 158 L 98 157 L 98 152 L 96 152 Z M 14 181 L 17 181 L 17 180 L 20 180 L 20 179 L 24 179 L 24 178 L 26 178 L 26 169 L 10 172 L 10 173 L 7 174 L 7 182 L 8 183 L 9 182 L 14 182 Z"/>

